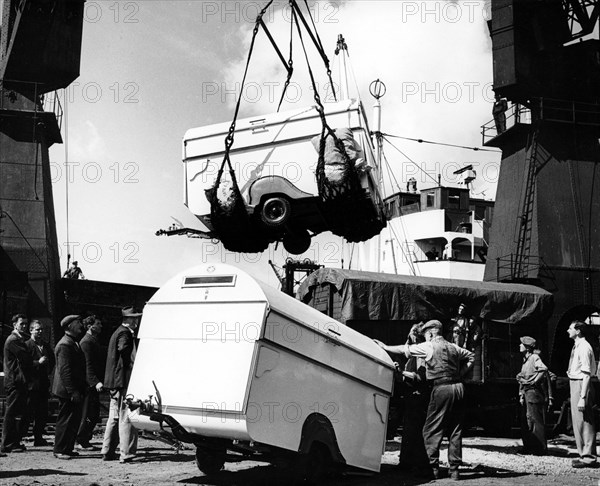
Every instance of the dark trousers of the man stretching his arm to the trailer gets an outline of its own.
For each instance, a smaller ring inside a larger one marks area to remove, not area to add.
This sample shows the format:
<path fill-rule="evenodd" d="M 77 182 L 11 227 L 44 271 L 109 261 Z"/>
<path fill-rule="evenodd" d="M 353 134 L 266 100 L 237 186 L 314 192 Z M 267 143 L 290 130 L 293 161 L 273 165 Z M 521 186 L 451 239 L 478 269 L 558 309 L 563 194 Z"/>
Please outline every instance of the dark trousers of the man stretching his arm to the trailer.
<path fill-rule="evenodd" d="M 437 385 L 431 391 L 427 419 L 423 426 L 423 440 L 429 465 L 440 464 L 440 445 L 444 434 L 448 437 L 448 462 L 450 469 L 462 463 L 462 423 L 465 388 L 462 383 Z"/>

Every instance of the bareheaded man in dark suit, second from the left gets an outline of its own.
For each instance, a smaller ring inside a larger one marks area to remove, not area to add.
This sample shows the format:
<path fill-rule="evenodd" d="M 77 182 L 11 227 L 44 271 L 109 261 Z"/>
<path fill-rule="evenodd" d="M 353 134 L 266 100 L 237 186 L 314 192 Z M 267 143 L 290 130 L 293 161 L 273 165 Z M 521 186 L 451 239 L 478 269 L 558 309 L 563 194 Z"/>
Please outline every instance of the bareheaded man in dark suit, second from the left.
<path fill-rule="evenodd" d="M 50 395 L 50 372 L 54 368 L 54 352 L 44 341 L 44 326 L 33 320 L 29 326 L 31 339 L 25 343 L 33 359 L 33 380 L 27 404 L 27 421 L 24 432 L 33 420 L 33 445 L 36 447 L 50 445 L 44 439 L 46 421 L 48 420 L 48 398 Z"/>

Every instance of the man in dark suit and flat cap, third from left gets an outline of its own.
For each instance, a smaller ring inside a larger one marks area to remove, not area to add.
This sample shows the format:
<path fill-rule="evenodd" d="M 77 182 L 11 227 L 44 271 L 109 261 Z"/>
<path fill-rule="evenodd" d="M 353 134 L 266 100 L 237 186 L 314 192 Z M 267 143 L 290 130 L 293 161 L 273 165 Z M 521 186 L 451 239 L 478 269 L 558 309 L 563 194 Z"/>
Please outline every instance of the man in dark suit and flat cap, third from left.
<path fill-rule="evenodd" d="M 56 345 L 56 372 L 52 393 L 58 397 L 59 408 L 54 437 L 54 457 L 71 459 L 78 456 L 73 451 L 75 436 L 81 422 L 83 395 L 85 394 L 85 357 L 78 340 L 84 333 L 79 316 L 65 317 L 60 326 L 65 335 Z"/>

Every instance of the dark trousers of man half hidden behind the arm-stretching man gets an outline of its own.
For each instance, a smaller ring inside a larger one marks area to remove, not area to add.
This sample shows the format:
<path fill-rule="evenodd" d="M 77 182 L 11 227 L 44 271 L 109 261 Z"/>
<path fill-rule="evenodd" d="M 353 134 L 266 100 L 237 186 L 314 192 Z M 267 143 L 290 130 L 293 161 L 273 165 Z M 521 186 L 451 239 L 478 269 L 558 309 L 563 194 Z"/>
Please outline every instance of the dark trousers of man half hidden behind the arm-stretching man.
<path fill-rule="evenodd" d="M 403 467 L 420 469 L 429 465 L 423 441 L 423 426 L 427 418 L 428 402 L 429 390 L 426 388 L 413 390 L 406 397 L 399 461 Z"/>

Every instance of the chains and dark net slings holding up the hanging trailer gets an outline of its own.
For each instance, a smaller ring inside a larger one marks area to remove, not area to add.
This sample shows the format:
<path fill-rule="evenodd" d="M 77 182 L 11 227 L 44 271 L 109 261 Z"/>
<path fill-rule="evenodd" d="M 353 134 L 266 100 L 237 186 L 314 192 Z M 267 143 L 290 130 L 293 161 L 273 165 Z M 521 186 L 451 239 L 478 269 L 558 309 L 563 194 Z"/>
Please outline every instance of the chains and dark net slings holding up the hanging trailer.
<path fill-rule="evenodd" d="M 248 214 L 244 198 L 237 183 L 235 170 L 231 164 L 230 150 L 234 142 L 235 127 L 242 99 L 241 93 L 243 93 L 243 87 L 248 74 L 250 60 L 254 50 L 259 27 L 262 27 L 267 33 L 271 44 L 274 46 L 280 60 L 287 70 L 287 79 L 284 84 L 281 99 L 279 101 L 280 107 L 293 72 L 291 34 L 295 24 L 308 66 L 308 72 L 313 87 L 314 100 L 316 103 L 315 108 L 321 120 L 321 134 L 315 175 L 317 179 L 319 197 L 323 205 L 323 216 L 325 217 L 329 229 L 333 234 L 344 237 L 349 242 L 365 241 L 378 234 L 381 229 L 385 227 L 385 220 L 373 206 L 364 189 L 362 189 L 360 179 L 355 168 L 355 162 L 348 156 L 344 147 L 344 143 L 339 139 L 339 137 L 336 136 L 335 130 L 333 130 L 327 123 L 325 110 L 321 102 L 321 97 L 318 93 L 315 77 L 310 66 L 308 54 L 306 52 L 306 46 L 302 36 L 301 23 L 316 46 L 321 58 L 323 59 L 332 89 L 334 89 L 334 84 L 331 79 L 329 59 L 325 54 L 321 39 L 316 31 L 314 20 L 312 19 L 310 10 L 308 8 L 307 0 L 304 0 L 304 3 L 312 21 L 315 34 L 313 35 L 313 32 L 302 12 L 300 11 L 296 1 L 290 0 L 289 5 L 291 7 L 292 19 L 290 31 L 290 57 L 287 63 L 283 59 L 283 56 L 276 46 L 273 37 L 263 22 L 263 16 L 272 3 L 273 0 L 269 1 L 268 4 L 260 11 L 256 19 L 252 34 L 252 41 L 250 43 L 248 52 L 248 58 L 246 61 L 246 67 L 242 78 L 240 95 L 238 96 L 236 102 L 233 120 L 225 138 L 225 154 L 223 157 L 223 162 L 217 173 L 217 178 L 213 187 L 206 190 L 206 197 L 211 205 L 211 222 L 215 229 L 215 233 L 218 235 L 218 238 L 221 240 L 226 249 L 235 252 L 262 252 L 268 247 L 269 243 L 275 239 L 273 235 L 269 236 L 263 227 L 261 227 L 259 224 L 256 224 L 256 222 L 254 222 L 252 217 Z M 333 95 L 335 98 L 335 91 L 333 92 Z M 328 137 L 332 137 L 336 149 L 343 158 L 343 169 L 340 177 L 338 177 L 336 181 L 329 180 L 325 171 L 325 148 Z M 218 191 L 221 186 L 225 165 L 228 166 L 231 177 L 231 187 L 229 188 L 231 193 L 227 198 L 226 204 L 219 200 L 218 197 Z"/>

